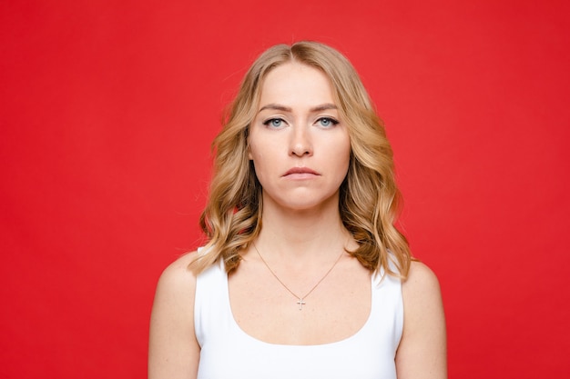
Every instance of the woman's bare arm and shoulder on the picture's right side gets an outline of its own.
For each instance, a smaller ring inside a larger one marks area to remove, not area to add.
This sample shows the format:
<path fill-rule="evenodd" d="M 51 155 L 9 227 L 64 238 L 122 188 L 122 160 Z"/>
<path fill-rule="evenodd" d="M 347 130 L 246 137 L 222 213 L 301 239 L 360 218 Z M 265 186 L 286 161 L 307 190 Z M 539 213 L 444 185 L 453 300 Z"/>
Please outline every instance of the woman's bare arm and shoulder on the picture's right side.
<path fill-rule="evenodd" d="M 412 262 L 402 283 L 403 332 L 396 353 L 398 379 L 447 378 L 445 317 L 440 285 L 425 264 Z"/>

